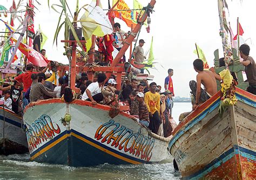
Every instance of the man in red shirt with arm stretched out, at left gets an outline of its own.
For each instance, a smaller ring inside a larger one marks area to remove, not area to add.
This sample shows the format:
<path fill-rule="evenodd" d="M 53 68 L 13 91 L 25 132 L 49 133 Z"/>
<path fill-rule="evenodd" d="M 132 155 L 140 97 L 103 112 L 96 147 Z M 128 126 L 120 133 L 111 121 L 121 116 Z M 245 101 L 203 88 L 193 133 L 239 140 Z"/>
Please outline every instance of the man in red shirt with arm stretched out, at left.
<path fill-rule="evenodd" d="M 42 73 L 45 73 L 45 71 L 48 69 L 48 67 L 50 67 L 50 63 L 48 63 L 48 65 L 44 68 L 44 70 L 42 71 Z M 32 84 L 32 80 L 31 80 L 31 74 L 34 73 L 39 73 L 39 72 L 33 72 L 33 69 L 35 68 L 35 66 L 33 66 L 31 63 L 29 63 L 28 65 L 26 65 L 26 72 L 19 74 L 14 80 L 18 81 L 18 82 L 22 82 L 23 83 L 23 109 L 26 107 L 26 105 L 29 104 L 29 101 L 25 98 L 25 92 L 29 89 L 29 87 Z M 13 81 L 14 81 L 13 80 Z"/>

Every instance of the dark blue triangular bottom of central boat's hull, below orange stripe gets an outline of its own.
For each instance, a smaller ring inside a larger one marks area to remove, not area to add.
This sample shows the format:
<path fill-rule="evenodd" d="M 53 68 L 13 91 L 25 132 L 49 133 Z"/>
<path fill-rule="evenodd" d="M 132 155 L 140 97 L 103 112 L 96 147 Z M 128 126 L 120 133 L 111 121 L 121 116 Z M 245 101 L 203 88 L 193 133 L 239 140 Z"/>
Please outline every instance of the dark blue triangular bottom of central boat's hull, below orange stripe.
<path fill-rule="evenodd" d="M 70 143 L 70 146 L 68 145 Z M 130 164 L 99 150 L 90 144 L 69 136 L 35 158 L 36 162 L 64 164 L 72 167 L 88 167 L 98 164 Z"/>

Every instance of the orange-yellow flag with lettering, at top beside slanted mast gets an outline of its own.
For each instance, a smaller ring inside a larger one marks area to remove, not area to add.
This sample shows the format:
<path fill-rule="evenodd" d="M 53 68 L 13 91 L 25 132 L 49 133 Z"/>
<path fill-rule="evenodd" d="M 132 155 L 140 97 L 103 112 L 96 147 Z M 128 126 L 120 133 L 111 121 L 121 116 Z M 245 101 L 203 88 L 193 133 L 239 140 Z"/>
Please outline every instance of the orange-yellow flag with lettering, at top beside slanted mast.
<path fill-rule="evenodd" d="M 113 0 L 112 4 L 116 4 L 118 1 L 119 0 Z M 127 26 L 131 27 L 133 25 L 133 27 L 135 27 L 136 23 L 134 23 L 132 20 L 131 10 L 129 6 L 124 2 L 124 0 L 119 1 L 113 10 L 127 10 L 127 11 L 113 11 L 113 12 L 117 18 L 124 20 Z"/>

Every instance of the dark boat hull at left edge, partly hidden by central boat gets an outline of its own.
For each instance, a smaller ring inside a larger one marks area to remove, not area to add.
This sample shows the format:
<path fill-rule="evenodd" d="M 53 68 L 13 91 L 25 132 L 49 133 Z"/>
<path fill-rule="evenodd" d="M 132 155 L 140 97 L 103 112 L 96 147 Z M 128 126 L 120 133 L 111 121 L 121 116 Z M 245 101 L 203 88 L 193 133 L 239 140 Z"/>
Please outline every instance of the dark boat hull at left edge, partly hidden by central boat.
<path fill-rule="evenodd" d="M 0 107 L 0 127 L 0 154 L 23 154 L 29 151 L 26 133 L 22 130 L 22 117 Z"/>

